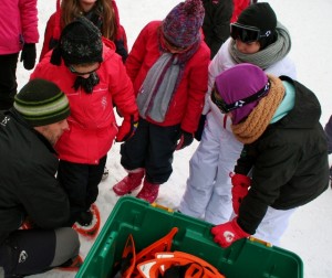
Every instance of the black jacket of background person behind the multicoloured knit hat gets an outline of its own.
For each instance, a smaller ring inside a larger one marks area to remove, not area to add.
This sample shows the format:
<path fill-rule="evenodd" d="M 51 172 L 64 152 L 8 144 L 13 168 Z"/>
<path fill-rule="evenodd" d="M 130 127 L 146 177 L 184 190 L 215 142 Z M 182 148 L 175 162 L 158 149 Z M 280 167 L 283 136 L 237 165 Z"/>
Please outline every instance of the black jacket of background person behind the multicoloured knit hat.
<path fill-rule="evenodd" d="M 234 11 L 232 0 L 203 0 L 205 17 L 204 41 L 211 51 L 211 58 L 229 38 L 229 23 Z"/>

